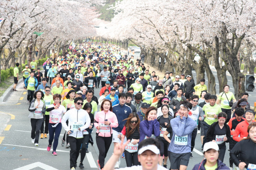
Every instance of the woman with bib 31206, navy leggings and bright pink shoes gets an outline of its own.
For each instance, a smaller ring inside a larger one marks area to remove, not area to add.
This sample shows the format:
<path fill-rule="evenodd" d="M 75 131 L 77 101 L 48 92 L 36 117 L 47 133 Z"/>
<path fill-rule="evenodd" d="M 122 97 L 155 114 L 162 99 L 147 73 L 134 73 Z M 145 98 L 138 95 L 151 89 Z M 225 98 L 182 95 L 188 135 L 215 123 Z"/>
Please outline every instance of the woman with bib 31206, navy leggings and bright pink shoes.
<path fill-rule="evenodd" d="M 56 149 L 58 146 L 59 136 L 61 132 L 61 116 L 62 113 L 66 113 L 66 109 L 64 106 L 60 105 L 60 94 L 55 94 L 53 96 L 54 103 L 49 105 L 49 107 L 46 109 L 47 112 L 49 112 L 49 144 L 47 147 L 47 151 L 50 151 L 50 148 L 52 147 L 53 142 L 53 151 L 52 155 L 57 156 Z"/>

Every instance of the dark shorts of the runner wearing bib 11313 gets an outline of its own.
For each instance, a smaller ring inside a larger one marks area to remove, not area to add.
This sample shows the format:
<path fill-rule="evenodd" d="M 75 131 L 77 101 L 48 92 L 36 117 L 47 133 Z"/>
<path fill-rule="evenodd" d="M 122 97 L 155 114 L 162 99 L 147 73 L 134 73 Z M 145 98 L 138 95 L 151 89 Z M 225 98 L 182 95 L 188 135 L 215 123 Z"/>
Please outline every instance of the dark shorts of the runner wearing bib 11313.
<path fill-rule="evenodd" d="M 176 154 L 168 151 L 168 156 L 171 162 L 171 169 L 180 169 L 180 165 L 188 166 L 190 152 L 184 154 Z"/>

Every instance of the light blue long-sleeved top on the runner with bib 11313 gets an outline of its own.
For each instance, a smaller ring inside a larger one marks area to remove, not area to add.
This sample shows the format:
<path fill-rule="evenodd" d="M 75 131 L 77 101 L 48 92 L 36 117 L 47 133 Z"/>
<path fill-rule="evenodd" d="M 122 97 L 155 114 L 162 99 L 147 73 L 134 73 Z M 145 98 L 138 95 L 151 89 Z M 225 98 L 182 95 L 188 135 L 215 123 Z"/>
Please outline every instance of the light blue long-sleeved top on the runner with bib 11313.
<path fill-rule="evenodd" d="M 189 117 L 183 117 L 181 119 L 180 116 L 178 116 L 174 119 L 171 119 L 170 124 L 171 128 L 173 128 L 173 137 L 171 138 L 172 140 L 168 150 L 176 154 L 184 154 L 191 152 L 191 134 L 195 127 L 197 126 L 196 122 Z M 178 138 L 186 135 L 188 135 L 187 139 Z M 183 143 L 187 142 L 187 145 L 175 144 L 175 140 L 177 142 L 179 142 L 179 140 L 183 141 Z"/>

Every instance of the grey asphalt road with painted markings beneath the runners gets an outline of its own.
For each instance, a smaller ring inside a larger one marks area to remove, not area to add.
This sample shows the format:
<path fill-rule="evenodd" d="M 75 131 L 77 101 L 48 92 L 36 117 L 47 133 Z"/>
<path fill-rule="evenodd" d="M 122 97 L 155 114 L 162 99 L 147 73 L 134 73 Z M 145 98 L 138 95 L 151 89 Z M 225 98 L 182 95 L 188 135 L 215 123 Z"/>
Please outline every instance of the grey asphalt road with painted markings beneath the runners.
<path fill-rule="evenodd" d="M 135 58 L 138 56 L 135 55 Z M 216 76 L 216 72 L 214 72 Z M 196 79 L 196 74 L 193 71 L 193 76 Z M 206 76 L 207 80 L 207 76 Z M 228 76 L 228 84 L 232 87 L 231 76 Z M 217 77 L 216 77 L 217 81 Z M 206 82 L 207 84 L 207 82 Z M 216 91 L 218 91 L 216 86 Z M 23 89 L 23 84 L 19 84 L 16 92 L 12 92 L 8 100 L 4 103 L 0 103 L 0 158 L 1 168 L 7 170 L 69 170 L 69 150 L 61 146 L 61 138 L 64 134 L 62 132 L 59 138 L 59 145 L 57 147 L 58 156 L 53 156 L 51 151 L 46 150 L 48 145 L 48 139 L 39 139 L 39 146 L 35 147 L 31 143 L 31 124 L 27 117 L 28 104 L 26 104 L 26 90 Z M 232 91 L 233 89 L 230 89 Z M 100 89 L 95 89 L 95 95 L 99 97 Z M 232 91 L 234 92 L 234 91 Z M 255 92 L 249 93 L 249 102 L 255 101 Z M 99 110 L 99 106 L 98 106 Z M 11 114 L 11 115 L 9 115 Z M 2 131 L 3 130 L 3 131 Z M 92 133 L 95 140 L 95 130 Z M 227 145 L 228 147 L 228 145 Z M 99 151 L 96 146 L 89 145 L 89 154 L 86 155 L 83 164 L 85 169 L 96 169 L 96 160 L 98 159 Z M 113 153 L 113 144 L 111 145 L 106 161 Z M 200 135 L 197 134 L 195 141 L 195 149 L 193 151 L 193 158 L 190 158 L 188 170 L 193 169 L 194 165 L 200 163 L 203 160 L 203 154 L 201 151 Z M 80 156 L 78 162 L 80 161 Z M 226 151 L 224 163 L 229 165 L 229 151 Z M 79 165 L 79 163 L 78 163 Z M 24 167 L 26 166 L 26 167 Z M 21 168 L 23 167 L 23 168 Z M 40 167 L 40 168 L 39 168 Z M 125 159 L 121 158 L 120 168 L 126 167 Z M 167 167 L 170 167 L 168 160 Z M 79 168 L 78 168 L 79 169 Z"/>

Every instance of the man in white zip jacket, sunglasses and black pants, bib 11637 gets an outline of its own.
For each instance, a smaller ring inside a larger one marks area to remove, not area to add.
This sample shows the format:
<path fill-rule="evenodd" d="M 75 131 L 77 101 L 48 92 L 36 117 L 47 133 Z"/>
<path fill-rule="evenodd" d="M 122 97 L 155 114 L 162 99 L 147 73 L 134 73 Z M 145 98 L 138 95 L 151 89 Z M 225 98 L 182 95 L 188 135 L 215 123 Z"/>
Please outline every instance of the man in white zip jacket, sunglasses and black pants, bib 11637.
<path fill-rule="evenodd" d="M 76 160 L 79 156 L 79 150 L 83 142 L 83 130 L 90 126 L 90 117 L 87 111 L 81 109 L 83 99 L 76 97 L 74 101 L 75 108 L 68 110 L 62 117 L 61 124 L 68 133 L 70 144 L 70 169 L 75 170 Z M 66 121 L 68 120 L 68 125 Z"/>

